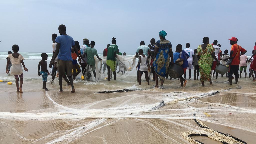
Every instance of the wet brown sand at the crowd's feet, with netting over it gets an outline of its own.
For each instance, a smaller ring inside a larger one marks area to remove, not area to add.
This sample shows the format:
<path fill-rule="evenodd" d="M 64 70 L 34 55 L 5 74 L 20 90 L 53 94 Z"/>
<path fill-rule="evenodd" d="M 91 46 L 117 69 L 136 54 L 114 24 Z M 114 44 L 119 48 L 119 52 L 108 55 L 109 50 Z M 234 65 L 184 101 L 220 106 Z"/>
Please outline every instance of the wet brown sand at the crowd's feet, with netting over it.
<path fill-rule="evenodd" d="M 182 133 L 202 130 L 194 119 L 247 143 L 256 140 L 256 83 L 248 78 L 230 86 L 223 77 L 206 87 L 189 80 L 185 88 L 179 80 L 166 80 L 163 89 L 153 88 L 153 81 L 138 86 L 134 77 L 126 78 L 129 83 L 76 81 L 74 94 L 68 86 L 59 93 L 58 81 L 47 83 L 48 92 L 41 80 L 24 81 L 22 94 L 15 84 L 0 84 L 0 143 L 189 143 Z M 125 88 L 142 90 L 93 94 Z"/>

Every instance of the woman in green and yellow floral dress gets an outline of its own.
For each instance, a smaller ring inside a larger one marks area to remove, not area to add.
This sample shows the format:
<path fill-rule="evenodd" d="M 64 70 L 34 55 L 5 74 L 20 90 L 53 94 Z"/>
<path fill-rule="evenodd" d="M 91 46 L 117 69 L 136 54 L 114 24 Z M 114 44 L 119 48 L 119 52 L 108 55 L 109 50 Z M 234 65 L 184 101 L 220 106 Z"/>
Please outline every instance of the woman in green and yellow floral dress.
<path fill-rule="evenodd" d="M 201 75 L 201 82 L 202 86 L 205 86 L 204 81 L 207 80 L 210 82 L 210 85 L 212 85 L 211 82 L 211 66 L 212 62 L 215 59 L 217 61 L 217 64 L 219 65 L 219 60 L 216 58 L 214 53 L 214 48 L 210 43 L 209 37 L 203 38 L 202 45 L 199 45 L 197 48 L 197 57 L 198 57 L 198 65 L 200 69 L 200 75 Z"/>

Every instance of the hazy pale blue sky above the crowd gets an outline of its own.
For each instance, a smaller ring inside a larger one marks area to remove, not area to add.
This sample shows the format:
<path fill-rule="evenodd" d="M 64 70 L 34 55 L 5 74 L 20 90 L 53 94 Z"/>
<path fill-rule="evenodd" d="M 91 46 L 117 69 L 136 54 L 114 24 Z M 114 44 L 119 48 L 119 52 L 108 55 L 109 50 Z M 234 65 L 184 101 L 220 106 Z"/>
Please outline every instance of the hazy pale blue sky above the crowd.
<path fill-rule="evenodd" d="M 195 49 L 208 36 L 230 50 L 234 36 L 251 54 L 256 42 L 255 0 L 1 0 L 0 13 L 0 51 L 17 44 L 23 52 L 51 52 L 60 24 L 80 45 L 83 38 L 95 41 L 98 53 L 112 37 L 120 52 L 135 53 L 141 41 L 159 40 L 161 30 L 173 48 L 190 43 Z"/>

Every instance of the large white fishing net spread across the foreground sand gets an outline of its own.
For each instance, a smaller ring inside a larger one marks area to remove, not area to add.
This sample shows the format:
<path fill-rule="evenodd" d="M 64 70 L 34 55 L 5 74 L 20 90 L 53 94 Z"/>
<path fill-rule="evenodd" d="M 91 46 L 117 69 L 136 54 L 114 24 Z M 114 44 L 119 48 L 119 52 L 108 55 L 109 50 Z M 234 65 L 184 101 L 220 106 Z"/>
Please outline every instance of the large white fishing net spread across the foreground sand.
<path fill-rule="evenodd" d="M 198 144 L 199 135 L 245 144 L 240 136 L 255 136 L 255 93 L 144 90 L 99 96 L 81 89 L 72 96 L 35 91 L 23 99 L 1 93 L 1 142 Z M 206 122 L 244 131 L 231 136 Z"/>

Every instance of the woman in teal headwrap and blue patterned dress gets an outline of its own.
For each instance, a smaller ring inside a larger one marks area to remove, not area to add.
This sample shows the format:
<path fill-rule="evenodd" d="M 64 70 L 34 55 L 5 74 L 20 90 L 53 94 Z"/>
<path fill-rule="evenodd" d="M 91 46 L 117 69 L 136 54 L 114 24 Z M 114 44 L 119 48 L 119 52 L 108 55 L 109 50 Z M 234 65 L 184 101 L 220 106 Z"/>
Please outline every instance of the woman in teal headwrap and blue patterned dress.
<path fill-rule="evenodd" d="M 166 40 L 167 33 L 165 31 L 159 32 L 160 40 L 156 42 L 154 55 L 155 59 L 153 61 L 153 66 L 155 70 L 156 86 L 158 87 L 158 77 L 161 81 L 161 86 L 164 84 L 165 76 L 169 68 L 169 61 L 171 58 L 171 63 L 173 63 L 173 50 L 170 41 Z"/>

